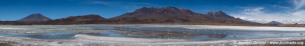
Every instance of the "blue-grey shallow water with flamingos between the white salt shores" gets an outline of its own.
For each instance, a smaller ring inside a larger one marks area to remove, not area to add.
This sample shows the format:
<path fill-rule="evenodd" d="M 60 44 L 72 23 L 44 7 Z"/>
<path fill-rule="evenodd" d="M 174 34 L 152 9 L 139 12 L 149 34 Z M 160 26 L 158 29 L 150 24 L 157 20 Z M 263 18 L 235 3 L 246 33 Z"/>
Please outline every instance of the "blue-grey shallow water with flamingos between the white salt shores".
<path fill-rule="evenodd" d="M 76 28 L 76 27 L 81 27 L 81 28 Z M 33 26 L 27 28 L 38 28 L 38 27 Z M 82 28 L 88 28 L 88 29 L 73 30 L 73 29 L 82 29 Z M 52 26 L 50 28 L 43 28 L 43 29 L 56 29 L 56 28 Z M 171 30 L 171 33 L 173 34 L 172 35 L 167 34 L 166 33 L 167 30 Z M 193 30 L 193 31 L 188 32 L 182 30 Z M 1 31 L 0 35 L 24 36 L 24 37 L 39 38 L 39 39 L 73 39 L 74 35 L 76 34 L 87 34 L 93 36 L 108 36 L 108 37 L 171 38 L 171 39 L 192 39 L 192 40 L 251 39 L 251 38 L 303 36 L 298 34 L 298 31 L 292 32 L 292 31 L 273 31 L 273 30 L 187 29 L 182 27 L 139 27 L 137 25 L 136 26 L 135 25 L 79 25 L 79 26 L 74 25 L 72 27 L 69 26 L 66 29 L 60 31 L 58 30 L 55 31 L 41 30 L 41 31 L 42 32 L 38 34 L 24 34 L 24 32 L 32 32 L 32 30 L 29 31 L 19 30 L 17 32 L 14 30 L 9 30 L 9 32 Z M 228 33 L 228 31 L 230 33 Z M 234 36 L 234 32 L 236 36 Z M 243 32 L 243 34 L 241 32 Z M 46 34 L 49 35 L 47 36 Z"/>

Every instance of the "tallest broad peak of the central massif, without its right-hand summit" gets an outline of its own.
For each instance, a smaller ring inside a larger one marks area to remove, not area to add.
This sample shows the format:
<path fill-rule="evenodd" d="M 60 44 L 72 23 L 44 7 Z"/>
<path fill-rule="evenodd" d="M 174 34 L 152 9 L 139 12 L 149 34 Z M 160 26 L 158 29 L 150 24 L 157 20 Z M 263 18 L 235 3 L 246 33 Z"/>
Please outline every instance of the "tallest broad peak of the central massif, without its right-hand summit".
<path fill-rule="evenodd" d="M 118 18 L 136 18 L 141 20 L 151 20 L 151 21 L 161 21 L 161 22 L 169 22 L 174 20 L 197 20 L 204 19 L 199 17 L 200 14 L 194 13 L 190 10 L 174 8 L 174 7 L 164 7 L 164 8 L 141 8 L 132 13 L 127 13 L 121 16 L 114 17 Z M 179 21 L 179 22 L 185 22 Z"/>

